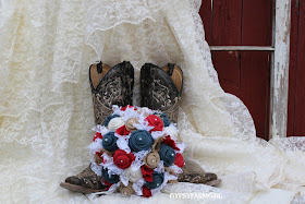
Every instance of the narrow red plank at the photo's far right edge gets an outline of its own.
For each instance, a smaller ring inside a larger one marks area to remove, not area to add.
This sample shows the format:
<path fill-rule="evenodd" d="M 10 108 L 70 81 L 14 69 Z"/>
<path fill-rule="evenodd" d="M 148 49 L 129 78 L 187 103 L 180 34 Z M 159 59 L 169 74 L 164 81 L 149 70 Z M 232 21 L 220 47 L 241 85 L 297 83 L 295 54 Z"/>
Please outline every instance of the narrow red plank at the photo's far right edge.
<path fill-rule="evenodd" d="M 300 0 L 294 136 L 305 136 L 305 1 Z"/>

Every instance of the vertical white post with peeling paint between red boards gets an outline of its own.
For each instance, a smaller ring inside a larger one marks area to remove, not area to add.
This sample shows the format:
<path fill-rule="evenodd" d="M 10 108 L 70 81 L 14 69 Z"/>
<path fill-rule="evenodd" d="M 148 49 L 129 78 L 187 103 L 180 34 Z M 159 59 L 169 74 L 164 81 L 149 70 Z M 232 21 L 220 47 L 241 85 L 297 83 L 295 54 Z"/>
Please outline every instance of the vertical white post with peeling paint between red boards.
<path fill-rule="evenodd" d="M 269 139 L 286 136 L 291 0 L 276 1 L 274 67 L 271 70 Z"/>

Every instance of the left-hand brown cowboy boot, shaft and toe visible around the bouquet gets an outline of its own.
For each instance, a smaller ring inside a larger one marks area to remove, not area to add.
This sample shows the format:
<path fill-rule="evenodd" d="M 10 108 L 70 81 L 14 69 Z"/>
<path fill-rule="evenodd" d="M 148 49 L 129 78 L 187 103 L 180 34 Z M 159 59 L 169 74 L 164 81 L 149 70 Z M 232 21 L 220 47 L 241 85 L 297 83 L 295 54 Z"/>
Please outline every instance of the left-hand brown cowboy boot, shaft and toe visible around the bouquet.
<path fill-rule="evenodd" d="M 91 64 L 89 82 L 96 124 L 102 124 L 112 113 L 112 105 L 132 105 L 134 69 L 130 62 L 124 61 L 113 68 L 101 62 Z M 90 166 L 76 176 L 68 177 L 60 185 L 82 193 L 100 192 L 106 188 Z"/>

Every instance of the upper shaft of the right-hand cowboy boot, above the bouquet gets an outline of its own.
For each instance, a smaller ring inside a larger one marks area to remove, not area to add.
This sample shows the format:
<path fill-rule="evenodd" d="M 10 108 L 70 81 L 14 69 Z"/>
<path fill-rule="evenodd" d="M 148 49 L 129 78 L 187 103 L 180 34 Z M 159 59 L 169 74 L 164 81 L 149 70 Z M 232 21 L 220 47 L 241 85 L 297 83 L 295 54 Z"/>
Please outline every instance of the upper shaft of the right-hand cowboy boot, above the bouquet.
<path fill-rule="evenodd" d="M 159 68 L 145 63 L 141 69 L 142 107 L 160 110 L 168 116 L 171 122 L 176 123 L 178 101 L 183 86 L 182 70 L 169 63 Z"/>

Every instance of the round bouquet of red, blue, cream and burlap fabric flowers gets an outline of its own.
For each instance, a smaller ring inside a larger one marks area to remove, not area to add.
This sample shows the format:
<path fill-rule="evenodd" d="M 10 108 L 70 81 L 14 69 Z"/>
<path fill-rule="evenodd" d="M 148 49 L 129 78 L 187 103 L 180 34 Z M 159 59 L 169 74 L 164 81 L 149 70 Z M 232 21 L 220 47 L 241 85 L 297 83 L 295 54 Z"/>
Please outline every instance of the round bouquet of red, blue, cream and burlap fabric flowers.
<path fill-rule="evenodd" d="M 94 131 L 91 169 L 108 187 L 107 193 L 149 197 L 182 173 L 185 145 L 162 112 L 113 106 L 113 113 Z"/>

